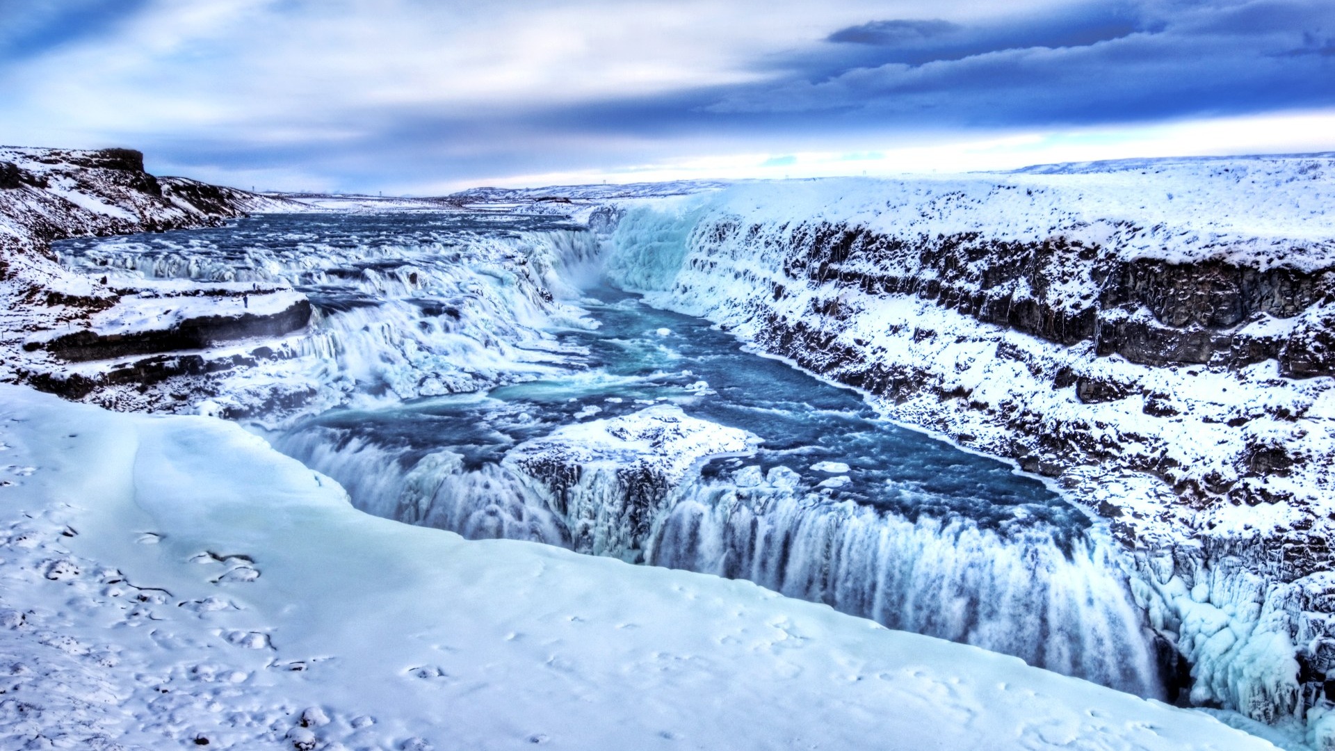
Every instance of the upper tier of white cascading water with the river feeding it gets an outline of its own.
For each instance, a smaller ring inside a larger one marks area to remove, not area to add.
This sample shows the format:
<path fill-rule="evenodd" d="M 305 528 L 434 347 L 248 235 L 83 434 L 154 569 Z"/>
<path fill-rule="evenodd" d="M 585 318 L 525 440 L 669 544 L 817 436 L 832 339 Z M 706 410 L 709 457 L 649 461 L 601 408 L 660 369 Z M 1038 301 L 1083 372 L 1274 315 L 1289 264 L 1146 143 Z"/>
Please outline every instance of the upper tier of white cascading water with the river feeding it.
<path fill-rule="evenodd" d="M 571 353 L 547 333 L 585 325 L 561 302 L 599 243 L 562 216 L 295 214 L 228 227 L 56 246 L 111 278 L 279 282 L 306 293 L 311 326 L 290 342 L 316 406 L 473 392 L 551 374 Z"/>

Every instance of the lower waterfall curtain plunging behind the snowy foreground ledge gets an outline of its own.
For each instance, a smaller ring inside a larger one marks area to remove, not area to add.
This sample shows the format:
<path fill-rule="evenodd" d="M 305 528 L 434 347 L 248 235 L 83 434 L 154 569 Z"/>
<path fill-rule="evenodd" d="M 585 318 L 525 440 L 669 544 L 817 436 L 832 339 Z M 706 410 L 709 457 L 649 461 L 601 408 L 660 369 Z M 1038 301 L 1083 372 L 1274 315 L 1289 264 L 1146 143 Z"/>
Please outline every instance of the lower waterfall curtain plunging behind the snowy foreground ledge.
<path fill-rule="evenodd" d="M 330 428 L 275 448 L 342 482 L 370 513 L 561 545 L 633 563 L 746 579 L 896 629 L 1015 655 L 1163 698 L 1157 659 L 1109 544 L 1047 522 L 985 528 L 832 502 L 784 466 L 677 485 L 598 466 L 469 468 L 454 452 L 398 452 Z M 561 488 L 554 492 L 553 488 Z M 633 505 L 638 513 L 595 513 Z"/>

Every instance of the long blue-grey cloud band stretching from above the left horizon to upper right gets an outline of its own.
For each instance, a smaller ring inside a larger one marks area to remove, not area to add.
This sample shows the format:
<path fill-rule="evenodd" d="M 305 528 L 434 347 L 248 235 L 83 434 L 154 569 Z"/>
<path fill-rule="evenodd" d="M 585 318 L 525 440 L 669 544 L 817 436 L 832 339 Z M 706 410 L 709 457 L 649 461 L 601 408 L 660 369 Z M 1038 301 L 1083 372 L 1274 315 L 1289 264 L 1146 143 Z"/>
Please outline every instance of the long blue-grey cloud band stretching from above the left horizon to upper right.
<path fill-rule="evenodd" d="M 793 144 L 821 138 L 1326 107 L 1335 106 L 1335 57 L 1328 52 L 1332 16 L 1335 11 L 1324 3 L 1252 3 L 1184 9 L 1117 5 L 1081 17 L 1017 17 L 988 28 L 926 27 L 936 29 L 930 33 L 864 24 L 854 28 L 881 33 L 876 44 L 825 44 L 854 51 L 844 56 L 789 55 L 782 65 L 774 64 L 785 73 L 764 84 L 619 96 L 506 115 L 383 110 L 356 120 L 362 135 L 352 140 L 191 142 L 167 154 L 182 162 L 204 155 L 246 168 L 299 162 L 336 175 L 336 187 L 355 187 L 384 174 L 426 183 L 454 175 L 649 163 L 672 158 L 659 143 L 684 139 L 792 154 L 800 150 Z M 1121 33 L 1123 27 L 1109 25 L 1109 19 L 1124 19 L 1136 31 Z"/>

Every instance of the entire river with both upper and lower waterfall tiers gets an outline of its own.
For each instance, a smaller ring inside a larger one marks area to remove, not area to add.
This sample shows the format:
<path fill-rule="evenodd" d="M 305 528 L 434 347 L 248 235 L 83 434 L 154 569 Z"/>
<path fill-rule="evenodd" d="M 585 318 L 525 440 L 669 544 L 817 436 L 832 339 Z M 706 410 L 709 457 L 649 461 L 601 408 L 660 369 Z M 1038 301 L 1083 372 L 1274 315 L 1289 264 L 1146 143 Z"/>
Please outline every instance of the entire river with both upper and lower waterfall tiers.
<path fill-rule="evenodd" d="M 682 242 L 670 235 L 668 255 Z M 591 278 L 589 233 L 531 216 L 295 215 L 60 250 L 111 273 L 306 291 L 318 313 L 298 359 L 343 406 L 270 440 L 367 512 L 749 579 L 1161 695 L 1144 616 L 1083 513 L 706 321 L 607 287 L 559 302 Z M 618 278 L 681 263 L 635 258 L 657 255 L 621 255 Z"/>

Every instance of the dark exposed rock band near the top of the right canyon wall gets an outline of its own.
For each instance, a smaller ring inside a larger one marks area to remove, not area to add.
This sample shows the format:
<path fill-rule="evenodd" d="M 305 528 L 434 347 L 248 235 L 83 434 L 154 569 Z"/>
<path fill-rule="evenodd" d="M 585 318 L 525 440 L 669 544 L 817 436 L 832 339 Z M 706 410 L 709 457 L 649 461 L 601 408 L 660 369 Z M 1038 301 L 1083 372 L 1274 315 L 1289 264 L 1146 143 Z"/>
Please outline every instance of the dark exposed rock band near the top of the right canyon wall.
<path fill-rule="evenodd" d="M 1124 227 L 1125 229 L 1125 227 Z M 706 243 L 765 243 L 758 226 L 720 220 Z M 902 294 L 987 323 L 1060 343 L 1092 341 L 1100 355 L 1143 365 L 1242 367 L 1280 357 L 1288 373 L 1331 376 L 1331 318 L 1312 319 L 1287 342 L 1246 331 L 1250 322 L 1292 318 L 1335 294 L 1335 269 L 1247 269 L 1224 261 L 1123 261 L 1100 246 L 1057 237 L 997 241 L 981 233 L 902 238 L 865 227 L 810 223 L 788 234 L 784 273 L 814 285 Z M 1072 297 L 1072 290 L 1083 295 Z M 774 299 L 785 294 L 774 289 Z M 834 301 L 812 313 L 838 317 Z"/>

